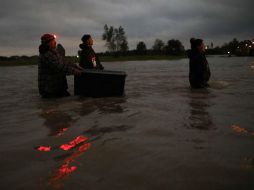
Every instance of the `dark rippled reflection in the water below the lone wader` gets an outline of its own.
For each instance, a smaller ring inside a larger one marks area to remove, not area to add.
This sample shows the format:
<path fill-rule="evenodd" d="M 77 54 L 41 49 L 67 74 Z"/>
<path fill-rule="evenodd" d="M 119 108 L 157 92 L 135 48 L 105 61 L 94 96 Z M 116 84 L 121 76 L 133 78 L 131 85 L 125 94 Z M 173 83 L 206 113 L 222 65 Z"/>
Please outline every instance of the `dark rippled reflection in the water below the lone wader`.
<path fill-rule="evenodd" d="M 210 130 L 214 128 L 208 108 L 211 106 L 209 90 L 191 90 L 189 94 L 190 113 L 188 127 L 198 130 Z"/>

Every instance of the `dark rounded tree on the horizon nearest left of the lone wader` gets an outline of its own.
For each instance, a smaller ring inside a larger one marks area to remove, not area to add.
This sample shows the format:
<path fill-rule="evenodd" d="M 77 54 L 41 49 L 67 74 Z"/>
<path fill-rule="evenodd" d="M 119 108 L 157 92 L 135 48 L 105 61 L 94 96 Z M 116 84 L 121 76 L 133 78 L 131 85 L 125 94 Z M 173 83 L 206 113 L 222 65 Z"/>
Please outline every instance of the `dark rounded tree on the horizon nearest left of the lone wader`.
<path fill-rule="evenodd" d="M 184 46 L 179 40 L 171 39 L 165 47 L 166 53 L 171 55 L 181 55 L 184 53 Z"/>

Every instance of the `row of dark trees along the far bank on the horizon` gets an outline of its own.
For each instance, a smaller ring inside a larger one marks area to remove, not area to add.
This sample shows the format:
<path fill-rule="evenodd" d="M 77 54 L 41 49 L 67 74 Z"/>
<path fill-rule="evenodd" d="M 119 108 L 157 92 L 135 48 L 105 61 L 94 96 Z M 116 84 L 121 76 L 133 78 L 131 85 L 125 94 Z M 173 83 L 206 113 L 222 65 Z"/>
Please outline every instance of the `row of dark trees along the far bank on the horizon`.
<path fill-rule="evenodd" d="M 185 48 L 178 39 L 170 39 L 164 43 L 161 39 L 155 39 L 151 49 L 148 49 L 144 41 L 137 42 L 134 50 L 129 50 L 128 41 L 124 28 L 104 26 L 102 39 L 106 41 L 106 55 L 184 55 Z M 254 56 L 254 39 L 232 41 L 223 44 L 221 47 L 213 47 L 213 42 L 206 46 L 207 54 L 229 54 L 237 56 Z"/>

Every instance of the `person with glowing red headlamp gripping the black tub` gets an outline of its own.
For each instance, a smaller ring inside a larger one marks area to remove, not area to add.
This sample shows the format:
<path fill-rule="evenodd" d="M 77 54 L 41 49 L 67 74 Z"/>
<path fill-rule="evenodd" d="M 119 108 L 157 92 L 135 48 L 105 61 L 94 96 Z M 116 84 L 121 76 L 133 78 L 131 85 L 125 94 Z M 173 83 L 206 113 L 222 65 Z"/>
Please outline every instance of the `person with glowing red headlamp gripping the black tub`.
<path fill-rule="evenodd" d="M 63 61 L 56 50 L 56 37 L 44 34 L 39 46 L 38 88 L 43 98 L 69 96 L 66 75 L 80 75 L 82 68 Z"/>

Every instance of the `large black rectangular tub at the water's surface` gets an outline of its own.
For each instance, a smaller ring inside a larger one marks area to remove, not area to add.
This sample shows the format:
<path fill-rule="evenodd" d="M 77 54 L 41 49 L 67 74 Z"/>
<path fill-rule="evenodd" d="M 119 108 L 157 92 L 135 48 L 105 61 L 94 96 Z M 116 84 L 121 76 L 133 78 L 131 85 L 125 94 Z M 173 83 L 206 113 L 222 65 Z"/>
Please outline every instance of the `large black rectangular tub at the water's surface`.
<path fill-rule="evenodd" d="M 123 96 L 126 73 L 86 69 L 74 76 L 74 94 L 87 97 Z"/>

